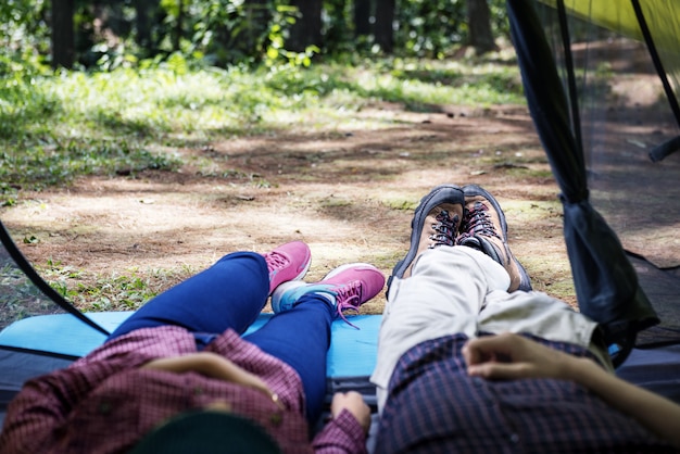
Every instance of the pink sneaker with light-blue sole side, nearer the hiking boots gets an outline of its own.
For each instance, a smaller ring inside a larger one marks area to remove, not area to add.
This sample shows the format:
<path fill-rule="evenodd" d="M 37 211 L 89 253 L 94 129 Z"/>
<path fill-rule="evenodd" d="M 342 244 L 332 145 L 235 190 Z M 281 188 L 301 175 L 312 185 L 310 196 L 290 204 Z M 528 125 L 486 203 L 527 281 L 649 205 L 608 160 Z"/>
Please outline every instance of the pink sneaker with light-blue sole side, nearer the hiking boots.
<path fill-rule="evenodd" d="M 284 283 L 272 295 L 272 308 L 275 313 L 289 311 L 302 295 L 320 293 L 331 302 L 338 315 L 352 325 L 343 312 L 358 312 L 358 307 L 380 293 L 382 287 L 385 276 L 378 268 L 367 263 L 351 263 L 337 267 L 315 283 L 301 281 Z"/>

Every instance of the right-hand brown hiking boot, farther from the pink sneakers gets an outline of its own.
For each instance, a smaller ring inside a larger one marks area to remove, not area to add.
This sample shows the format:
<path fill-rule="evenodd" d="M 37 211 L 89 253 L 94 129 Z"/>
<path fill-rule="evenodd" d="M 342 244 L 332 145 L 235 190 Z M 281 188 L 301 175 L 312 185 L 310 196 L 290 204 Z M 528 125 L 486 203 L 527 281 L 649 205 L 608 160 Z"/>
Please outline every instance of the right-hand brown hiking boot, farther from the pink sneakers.
<path fill-rule="evenodd" d="M 507 245 L 507 223 L 499 202 L 477 185 L 463 187 L 465 209 L 458 245 L 477 249 L 503 265 L 511 277 L 508 292 L 531 290 L 524 266 Z"/>

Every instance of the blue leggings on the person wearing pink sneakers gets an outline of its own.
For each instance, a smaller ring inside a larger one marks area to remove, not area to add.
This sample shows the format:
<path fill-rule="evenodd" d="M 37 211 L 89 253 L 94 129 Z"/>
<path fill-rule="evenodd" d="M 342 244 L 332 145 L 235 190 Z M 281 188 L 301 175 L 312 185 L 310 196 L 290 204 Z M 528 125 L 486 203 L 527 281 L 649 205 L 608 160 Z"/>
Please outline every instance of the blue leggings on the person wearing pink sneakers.
<path fill-rule="evenodd" d="M 139 328 L 181 326 L 193 332 L 199 348 L 231 328 L 238 333 L 257 318 L 269 292 L 264 257 L 235 252 L 142 305 L 109 337 Z M 298 371 L 306 398 L 306 417 L 320 416 L 326 395 L 326 354 L 335 313 L 323 297 L 306 294 L 292 311 L 273 316 L 244 337 Z"/>

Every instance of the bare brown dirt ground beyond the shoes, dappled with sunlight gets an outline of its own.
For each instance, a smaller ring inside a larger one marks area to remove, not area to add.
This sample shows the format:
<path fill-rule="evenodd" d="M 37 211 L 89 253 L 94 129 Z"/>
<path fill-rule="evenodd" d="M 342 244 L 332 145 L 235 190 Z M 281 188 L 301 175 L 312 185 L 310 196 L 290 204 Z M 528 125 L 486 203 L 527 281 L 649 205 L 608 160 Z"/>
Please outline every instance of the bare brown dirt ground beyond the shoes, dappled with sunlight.
<path fill-rule="evenodd" d="M 534 289 L 576 303 L 558 188 L 525 106 L 413 113 L 380 104 L 355 119 L 172 150 L 187 163 L 179 172 L 81 178 L 22 192 L 0 214 L 33 263 L 83 270 L 74 287 L 135 270 L 162 290 L 227 252 L 293 239 L 312 249 L 307 280 L 348 262 L 389 276 L 419 199 L 439 184 L 475 182 L 505 210 Z M 381 293 L 363 312 L 383 304 Z"/>

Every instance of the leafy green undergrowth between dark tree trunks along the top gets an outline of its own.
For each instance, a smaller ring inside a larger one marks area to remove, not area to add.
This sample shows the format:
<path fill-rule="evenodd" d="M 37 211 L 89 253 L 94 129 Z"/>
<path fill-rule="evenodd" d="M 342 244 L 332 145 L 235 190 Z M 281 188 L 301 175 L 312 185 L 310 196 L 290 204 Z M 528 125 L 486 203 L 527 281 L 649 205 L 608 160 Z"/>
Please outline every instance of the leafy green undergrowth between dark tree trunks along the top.
<path fill-rule="evenodd" d="M 496 37 L 507 35 L 504 0 L 488 0 Z M 467 0 L 399 0 L 394 54 L 442 59 L 467 39 Z M 375 5 L 374 5 L 375 7 Z M 77 67 L 112 71 L 156 64 L 180 53 L 193 63 L 308 65 L 313 54 L 379 52 L 374 37 L 355 36 L 354 4 L 324 0 L 322 42 L 286 52 L 291 25 L 304 21 L 289 0 L 112 0 L 75 2 Z M 381 14 L 375 11 L 373 14 Z M 0 58 L 42 65 L 50 60 L 50 1 L 0 4 Z M 144 63 L 147 62 L 147 63 Z M 0 72 L 3 63 L 0 62 Z"/>

